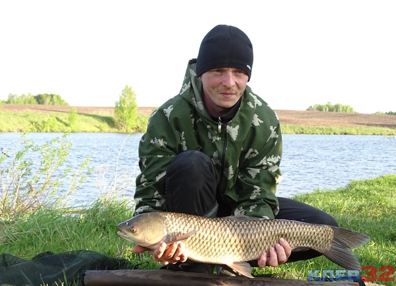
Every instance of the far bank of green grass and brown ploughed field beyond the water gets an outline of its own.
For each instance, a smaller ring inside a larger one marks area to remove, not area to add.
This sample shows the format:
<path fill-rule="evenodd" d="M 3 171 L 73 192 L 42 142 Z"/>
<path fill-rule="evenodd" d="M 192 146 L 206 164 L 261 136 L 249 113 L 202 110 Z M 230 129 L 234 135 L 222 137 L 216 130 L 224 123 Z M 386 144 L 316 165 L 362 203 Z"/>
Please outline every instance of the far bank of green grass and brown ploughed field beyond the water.
<path fill-rule="evenodd" d="M 72 114 L 72 109 L 76 113 Z M 146 132 L 153 107 L 140 107 L 133 133 Z M 396 135 L 396 116 L 276 110 L 283 134 Z M 0 132 L 120 133 L 114 108 L 3 104 Z"/>

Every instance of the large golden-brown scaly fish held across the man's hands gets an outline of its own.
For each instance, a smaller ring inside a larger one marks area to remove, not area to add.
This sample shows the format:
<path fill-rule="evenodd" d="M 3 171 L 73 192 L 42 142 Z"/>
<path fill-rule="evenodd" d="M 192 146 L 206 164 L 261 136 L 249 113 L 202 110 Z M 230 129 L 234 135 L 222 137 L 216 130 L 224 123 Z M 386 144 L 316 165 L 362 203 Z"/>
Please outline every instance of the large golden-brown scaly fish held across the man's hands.
<path fill-rule="evenodd" d="M 349 270 L 360 270 L 360 264 L 348 248 L 370 240 L 365 234 L 327 225 L 246 216 L 206 218 L 170 212 L 141 214 L 120 223 L 118 228 L 122 238 L 150 249 L 162 242 L 185 240 L 191 260 L 225 264 L 247 277 L 252 276 L 246 261 L 258 259 L 281 237 L 292 250 L 314 249 Z"/>

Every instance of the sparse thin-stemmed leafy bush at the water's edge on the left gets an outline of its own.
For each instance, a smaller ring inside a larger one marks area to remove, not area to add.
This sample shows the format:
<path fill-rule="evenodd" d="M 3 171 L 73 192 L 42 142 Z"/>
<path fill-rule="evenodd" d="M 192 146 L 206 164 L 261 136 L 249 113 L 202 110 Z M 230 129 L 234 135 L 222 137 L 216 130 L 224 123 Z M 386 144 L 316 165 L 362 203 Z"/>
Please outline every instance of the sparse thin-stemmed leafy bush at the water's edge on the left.
<path fill-rule="evenodd" d="M 0 217 L 12 219 L 24 216 L 43 206 L 63 206 L 65 199 L 93 172 L 91 158 L 73 171 L 73 165 L 59 169 L 66 162 L 72 142 L 67 133 L 39 145 L 23 134 L 14 155 L 1 150 L 0 157 Z M 20 145 L 20 146 L 19 146 Z M 70 178 L 67 191 L 60 195 L 59 187 Z"/>

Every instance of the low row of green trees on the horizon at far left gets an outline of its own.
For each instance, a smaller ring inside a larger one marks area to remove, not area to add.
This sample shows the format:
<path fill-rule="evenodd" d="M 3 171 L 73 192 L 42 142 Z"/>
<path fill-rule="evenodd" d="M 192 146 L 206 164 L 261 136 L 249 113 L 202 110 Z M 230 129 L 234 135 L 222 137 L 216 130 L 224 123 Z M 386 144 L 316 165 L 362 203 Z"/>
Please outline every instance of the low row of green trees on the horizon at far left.
<path fill-rule="evenodd" d="M 59 95 L 57 94 L 38 94 L 32 95 L 28 93 L 28 95 L 16 95 L 16 94 L 8 94 L 8 99 L 3 101 L 3 103 L 7 104 L 42 104 L 42 105 L 64 105 L 69 106 L 67 102 L 65 102 Z"/>

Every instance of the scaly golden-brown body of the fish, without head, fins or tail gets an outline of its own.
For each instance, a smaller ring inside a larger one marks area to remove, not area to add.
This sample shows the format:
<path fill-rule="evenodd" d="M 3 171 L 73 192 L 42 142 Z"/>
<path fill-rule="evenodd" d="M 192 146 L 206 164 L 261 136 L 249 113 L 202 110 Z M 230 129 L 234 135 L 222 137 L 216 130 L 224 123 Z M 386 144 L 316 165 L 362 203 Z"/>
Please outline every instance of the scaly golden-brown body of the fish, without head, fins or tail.
<path fill-rule="evenodd" d="M 180 233 L 198 229 L 185 243 L 189 257 L 198 262 L 226 264 L 257 259 L 263 251 L 285 238 L 292 248 L 330 249 L 333 231 L 326 225 L 295 224 L 284 220 L 238 221 L 200 218 L 191 222 L 188 215 L 166 213 L 165 228 L 172 240 Z M 319 230 L 320 229 L 320 230 Z M 321 235 L 319 235 L 321 234 Z M 232 251 L 230 251 L 232 249 Z"/>

